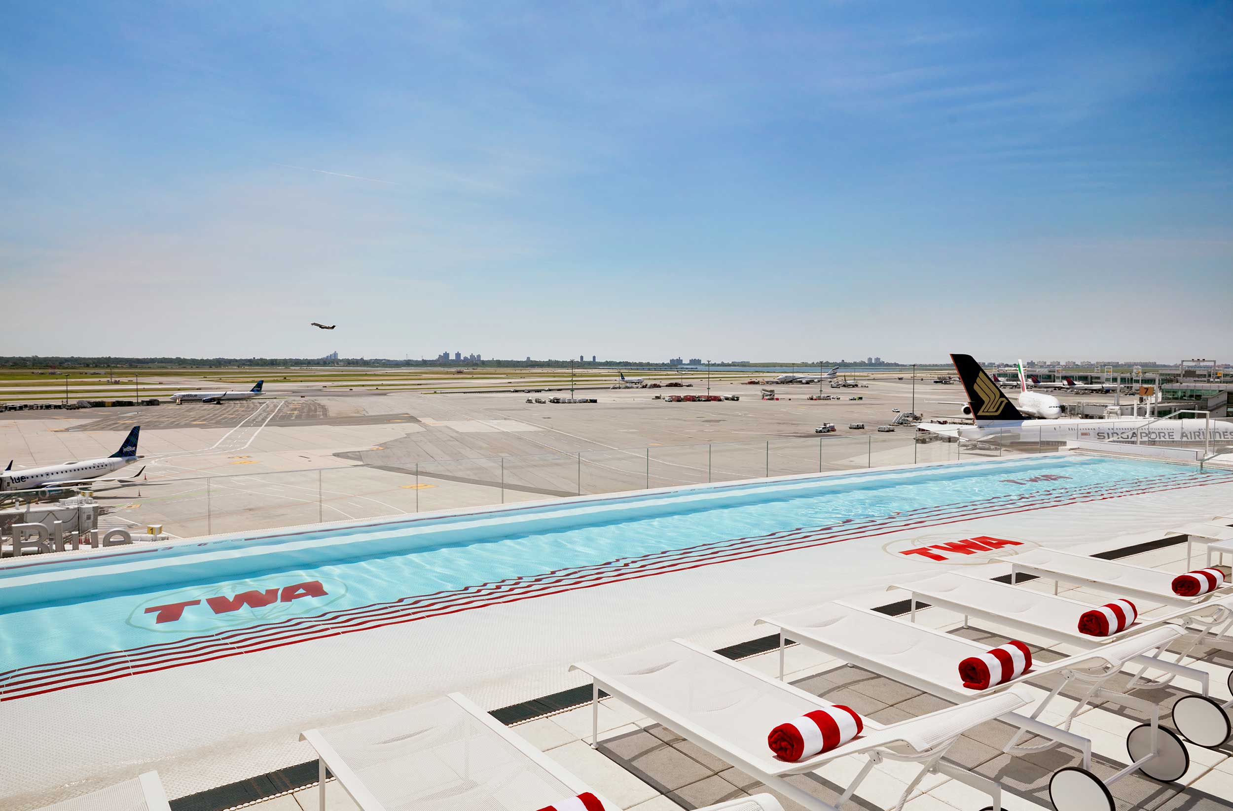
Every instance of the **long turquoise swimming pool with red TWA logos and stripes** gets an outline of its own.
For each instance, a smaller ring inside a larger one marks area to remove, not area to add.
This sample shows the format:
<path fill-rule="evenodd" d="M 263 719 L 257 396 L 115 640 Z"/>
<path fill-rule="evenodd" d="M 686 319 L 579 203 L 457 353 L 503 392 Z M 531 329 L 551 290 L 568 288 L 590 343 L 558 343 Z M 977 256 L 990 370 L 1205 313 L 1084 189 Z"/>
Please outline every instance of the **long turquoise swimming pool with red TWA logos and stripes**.
<path fill-rule="evenodd" d="M 904 529 L 1233 481 L 1048 455 L 568 499 L 0 566 L 12 700 Z"/>

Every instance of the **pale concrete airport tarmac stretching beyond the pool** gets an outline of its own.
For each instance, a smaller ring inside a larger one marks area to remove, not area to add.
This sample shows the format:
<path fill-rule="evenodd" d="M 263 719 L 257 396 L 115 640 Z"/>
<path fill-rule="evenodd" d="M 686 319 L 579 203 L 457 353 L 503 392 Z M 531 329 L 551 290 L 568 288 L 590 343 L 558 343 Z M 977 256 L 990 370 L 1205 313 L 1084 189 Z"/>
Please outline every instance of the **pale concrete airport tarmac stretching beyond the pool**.
<path fill-rule="evenodd" d="M 99 484 L 95 497 L 109 526 L 160 524 L 181 537 L 957 457 L 953 444 L 917 444 L 910 426 L 877 431 L 893 408 L 911 410 L 910 380 L 867 386 L 776 386 L 780 399 L 762 401 L 761 386 L 713 382 L 713 394 L 741 399 L 653 399 L 707 392 L 695 383 L 587 392 L 599 399 L 593 404 L 538 404 L 525 401 L 554 394 L 308 396 L 289 383 L 223 404 L 6 413 L 0 457 L 26 467 L 107 456 L 141 424 L 145 458 L 125 471 L 141 470 L 141 479 Z M 819 391 L 837 399 L 806 399 Z M 927 418 L 956 415 L 961 392 L 919 380 L 915 407 Z M 815 434 L 824 422 L 837 430 Z M 866 429 L 850 429 L 853 422 Z"/>

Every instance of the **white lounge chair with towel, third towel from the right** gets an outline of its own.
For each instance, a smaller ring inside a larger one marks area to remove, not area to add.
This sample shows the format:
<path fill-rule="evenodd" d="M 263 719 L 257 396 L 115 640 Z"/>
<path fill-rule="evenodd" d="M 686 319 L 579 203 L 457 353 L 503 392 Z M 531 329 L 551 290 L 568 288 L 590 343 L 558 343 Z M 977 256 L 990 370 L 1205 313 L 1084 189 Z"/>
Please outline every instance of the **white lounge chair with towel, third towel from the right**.
<path fill-rule="evenodd" d="M 1190 768 L 1190 754 L 1185 744 L 1173 732 L 1159 726 L 1159 707 L 1155 704 L 1104 687 L 1134 657 L 1150 654 L 1153 651 L 1157 656 L 1161 654 L 1181 636 L 1180 629 L 1153 629 L 1094 651 L 1037 664 L 1018 679 L 990 689 L 973 690 L 963 687 L 959 662 L 985 653 L 988 643 L 911 625 L 845 603 L 827 603 L 787 616 L 758 620 L 758 624 L 779 629 L 780 677 L 784 640 L 789 638 L 961 705 L 1046 675 L 1060 675 L 1058 685 L 1037 704 L 1031 716 L 1014 714 L 1002 719 L 1018 727 L 1018 732 L 1004 748 L 1007 754 L 1031 754 L 1058 744 L 1083 753 L 1081 768 L 1059 769 L 1049 780 L 1049 799 L 1058 811 L 1113 811 L 1113 796 L 1107 788 L 1110 784 L 1134 770 L 1157 780 L 1170 781 L 1179 779 Z M 1073 707 L 1060 725 L 1041 721 L 1041 715 L 1069 684 L 1078 684 L 1084 689 L 1080 700 L 1073 701 Z M 1126 747 L 1133 763 L 1107 780 L 1101 780 L 1091 772 L 1091 741 L 1069 731 L 1074 717 L 1096 700 L 1134 707 L 1148 712 L 1152 719 L 1149 723 L 1131 730 L 1126 737 Z M 1020 744 L 1030 735 L 1047 738 L 1049 743 Z"/>

